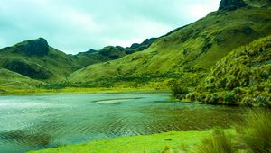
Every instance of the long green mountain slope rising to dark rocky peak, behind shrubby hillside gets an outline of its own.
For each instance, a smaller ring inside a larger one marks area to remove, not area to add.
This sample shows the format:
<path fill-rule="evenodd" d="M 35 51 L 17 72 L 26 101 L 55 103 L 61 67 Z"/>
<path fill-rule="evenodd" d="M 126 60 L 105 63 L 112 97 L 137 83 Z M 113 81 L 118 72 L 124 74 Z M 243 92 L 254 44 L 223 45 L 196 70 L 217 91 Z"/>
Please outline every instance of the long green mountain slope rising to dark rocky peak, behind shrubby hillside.
<path fill-rule="evenodd" d="M 178 80 L 195 87 L 231 50 L 271 34 L 271 10 L 243 2 L 223 0 L 217 12 L 169 32 L 143 51 L 79 69 L 70 83 L 165 88 Z"/>

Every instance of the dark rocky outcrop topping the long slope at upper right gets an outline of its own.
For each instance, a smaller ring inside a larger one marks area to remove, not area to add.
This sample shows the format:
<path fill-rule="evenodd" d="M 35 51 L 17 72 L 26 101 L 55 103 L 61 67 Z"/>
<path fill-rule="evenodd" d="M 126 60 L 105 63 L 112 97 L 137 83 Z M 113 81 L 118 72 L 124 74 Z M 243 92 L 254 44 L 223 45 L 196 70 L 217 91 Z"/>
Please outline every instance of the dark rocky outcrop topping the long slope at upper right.
<path fill-rule="evenodd" d="M 245 6 L 247 4 L 243 0 L 221 0 L 219 10 L 235 10 Z"/>

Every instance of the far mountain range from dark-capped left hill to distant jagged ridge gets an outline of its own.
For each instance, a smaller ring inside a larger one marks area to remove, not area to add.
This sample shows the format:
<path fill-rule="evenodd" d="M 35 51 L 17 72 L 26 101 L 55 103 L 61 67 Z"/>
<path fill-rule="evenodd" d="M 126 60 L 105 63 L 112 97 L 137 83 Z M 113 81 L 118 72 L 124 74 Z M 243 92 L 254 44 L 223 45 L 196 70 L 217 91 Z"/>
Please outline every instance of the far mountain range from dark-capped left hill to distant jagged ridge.
<path fill-rule="evenodd" d="M 48 45 L 47 40 L 26 40 L 0 49 L 0 67 L 37 80 L 66 80 L 75 70 L 91 64 L 122 58 L 146 49 L 155 39 L 133 44 L 130 48 L 108 46 L 104 49 L 67 55 Z"/>

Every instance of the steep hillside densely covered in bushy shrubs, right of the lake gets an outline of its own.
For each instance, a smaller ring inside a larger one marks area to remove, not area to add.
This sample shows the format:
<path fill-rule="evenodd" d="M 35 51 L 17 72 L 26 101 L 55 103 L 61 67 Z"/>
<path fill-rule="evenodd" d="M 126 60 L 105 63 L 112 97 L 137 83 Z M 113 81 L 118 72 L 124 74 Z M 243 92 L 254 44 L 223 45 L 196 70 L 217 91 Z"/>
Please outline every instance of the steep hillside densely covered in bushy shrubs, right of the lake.
<path fill-rule="evenodd" d="M 271 36 L 230 52 L 186 97 L 201 103 L 271 104 Z"/>

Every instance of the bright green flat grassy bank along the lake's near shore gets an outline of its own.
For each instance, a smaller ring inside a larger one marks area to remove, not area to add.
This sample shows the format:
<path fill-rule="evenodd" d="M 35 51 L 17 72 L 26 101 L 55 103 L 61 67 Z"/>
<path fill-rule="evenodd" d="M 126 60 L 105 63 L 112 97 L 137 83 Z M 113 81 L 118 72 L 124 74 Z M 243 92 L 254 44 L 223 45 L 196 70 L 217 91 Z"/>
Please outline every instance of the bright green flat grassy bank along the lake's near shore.
<path fill-rule="evenodd" d="M 232 130 L 231 130 L 232 131 Z M 101 139 L 85 144 L 69 145 L 33 151 L 33 153 L 85 153 L 85 152 L 162 152 L 189 151 L 201 140 L 210 137 L 211 130 L 206 131 L 173 131 L 147 136 Z"/>

